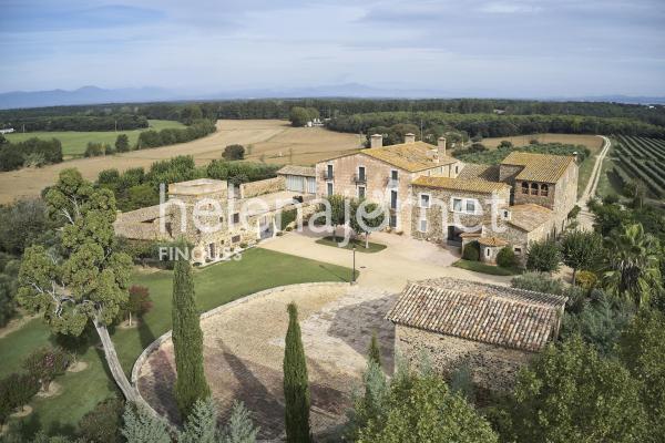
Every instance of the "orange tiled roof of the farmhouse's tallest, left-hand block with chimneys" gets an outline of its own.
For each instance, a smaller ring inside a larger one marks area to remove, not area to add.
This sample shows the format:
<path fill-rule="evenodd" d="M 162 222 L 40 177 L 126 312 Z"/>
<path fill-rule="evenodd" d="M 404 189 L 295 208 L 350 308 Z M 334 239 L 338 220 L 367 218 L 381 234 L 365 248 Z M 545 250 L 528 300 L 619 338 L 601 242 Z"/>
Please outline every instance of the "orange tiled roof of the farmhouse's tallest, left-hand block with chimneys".
<path fill-rule="evenodd" d="M 431 150 L 434 150 L 436 147 L 437 146 L 430 145 L 429 143 L 415 142 L 383 147 L 370 147 L 362 150 L 360 153 L 411 173 L 458 162 L 456 158 L 440 155 L 439 163 L 436 163 L 431 155 Z"/>

